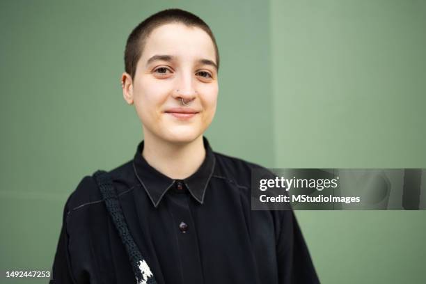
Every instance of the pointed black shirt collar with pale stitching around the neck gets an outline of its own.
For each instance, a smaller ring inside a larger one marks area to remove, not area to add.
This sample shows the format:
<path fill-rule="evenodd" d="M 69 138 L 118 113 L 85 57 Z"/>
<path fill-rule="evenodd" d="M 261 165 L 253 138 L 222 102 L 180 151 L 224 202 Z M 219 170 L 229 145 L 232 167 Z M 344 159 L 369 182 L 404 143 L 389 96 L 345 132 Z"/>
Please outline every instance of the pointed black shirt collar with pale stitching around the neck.
<path fill-rule="evenodd" d="M 203 136 L 203 143 L 206 152 L 203 164 L 201 164 L 194 174 L 183 180 L 189 193 L 201 204 L 203 204 L 205 190 L 207 189 L 210 178 L 212 178 L 216 162 L 212 148 L 210 148 L 210 144 L 205 136 Z M 152 204 L 157 207 L 164 194 L 175 184 L 175 180 L 168 178 L 168 176 L 150 166 L 142 156 L 142 150 L 143 141 L 137 146 L 136 154 L 134 155 L 134 173 L 150 197 Z"/>

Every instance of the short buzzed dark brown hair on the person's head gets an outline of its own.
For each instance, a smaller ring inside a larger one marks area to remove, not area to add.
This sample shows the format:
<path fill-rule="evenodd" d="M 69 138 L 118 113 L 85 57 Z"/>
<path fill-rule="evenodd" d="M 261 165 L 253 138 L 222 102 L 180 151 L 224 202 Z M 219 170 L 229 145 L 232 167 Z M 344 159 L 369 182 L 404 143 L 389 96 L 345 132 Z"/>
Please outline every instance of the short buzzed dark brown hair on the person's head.
<path fill-rule="evenodd" d="M 189 13 L 181 9 L 166 9 L 161 10 L 154 15 L 146 18 L 133 29 L 130 33 L 129 38 L 127 38 L 126 48 L 125 48 L 125 72 L 130 74 L 132 79 L 134 79 L 134 74 L 136 73 L 136 64 L 141 58 L 143 48 L 146 44 L 146 39 L 150 33 L 157 27 L 164 24 L 170 23 L 181 23 L 187 26 L 196 26 L 200 29 L 203 29 L 213 41 L 214 49 L 216 52 L 216 65 L 217 70 L 219 70 L 219 49 L 216 45 L 216 39 L 212 33 L 210 27 L 200 19 L 200 17 Z"/>

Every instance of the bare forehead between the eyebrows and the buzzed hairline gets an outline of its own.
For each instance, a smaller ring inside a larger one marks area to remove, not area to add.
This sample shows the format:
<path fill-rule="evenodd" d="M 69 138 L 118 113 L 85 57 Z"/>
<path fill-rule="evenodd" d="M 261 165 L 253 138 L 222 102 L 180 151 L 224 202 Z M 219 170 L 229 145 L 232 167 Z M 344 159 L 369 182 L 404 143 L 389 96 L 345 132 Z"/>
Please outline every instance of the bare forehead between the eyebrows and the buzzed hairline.
<path fill-rule="evenodd" d="M 141 61 L 147 61 L 157 54 L 168 54 L 182 59 L 205 58 L 216 62 L 214 44 L 210 36 L 196 26 L 179 23 L 161 25 L 147 37 Z"/>

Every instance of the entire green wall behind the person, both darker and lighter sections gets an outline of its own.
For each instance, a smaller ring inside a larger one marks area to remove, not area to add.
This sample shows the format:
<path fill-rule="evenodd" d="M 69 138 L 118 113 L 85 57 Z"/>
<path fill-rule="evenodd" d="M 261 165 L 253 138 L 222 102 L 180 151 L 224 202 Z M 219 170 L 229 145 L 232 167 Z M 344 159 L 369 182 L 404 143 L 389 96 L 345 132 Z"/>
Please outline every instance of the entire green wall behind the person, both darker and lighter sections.
<path fill-rule="evenodd" d="M 426 1 L 2 0 L 2 274 L 51 269 L 66 198 L 132 159 L 143 136 L 120 91 L 125 40 L 173 7 L 219 45 L 217 152 L 269 168 L 426 168 Z M 296 214 L 322 283 L 426 283 L 425 211 Z"/>

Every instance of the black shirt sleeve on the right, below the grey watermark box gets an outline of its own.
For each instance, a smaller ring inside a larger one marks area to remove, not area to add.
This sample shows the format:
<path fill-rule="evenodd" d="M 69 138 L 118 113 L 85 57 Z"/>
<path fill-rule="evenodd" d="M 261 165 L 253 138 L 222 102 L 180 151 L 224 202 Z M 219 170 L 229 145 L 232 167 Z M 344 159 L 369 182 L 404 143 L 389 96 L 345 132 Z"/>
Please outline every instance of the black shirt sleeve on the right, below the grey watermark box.
<path fill-rule="evenodd" d="M 292 210 L 280 211 L 281 228 L 277 240 L 278 283 L 319 283 L 308 247 Z"/>

